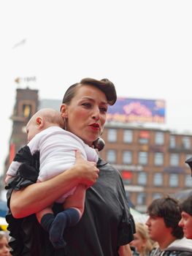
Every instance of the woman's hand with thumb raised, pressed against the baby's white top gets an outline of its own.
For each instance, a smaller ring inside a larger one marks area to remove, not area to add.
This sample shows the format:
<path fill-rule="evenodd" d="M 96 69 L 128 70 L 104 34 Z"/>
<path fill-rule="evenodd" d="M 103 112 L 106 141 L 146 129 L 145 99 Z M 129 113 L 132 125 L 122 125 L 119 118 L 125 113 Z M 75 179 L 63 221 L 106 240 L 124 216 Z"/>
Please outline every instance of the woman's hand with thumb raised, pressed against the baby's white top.
<path fill-rule="evenodd" d="M 79 183 L 91 187 L 99 177 L 99 169 L 96 167 L 96 162 L 85 160 L 80 151 L 75 152 L 75 157 L 74 169 L 77 173 L 77 178 L 80 179 Z"/>

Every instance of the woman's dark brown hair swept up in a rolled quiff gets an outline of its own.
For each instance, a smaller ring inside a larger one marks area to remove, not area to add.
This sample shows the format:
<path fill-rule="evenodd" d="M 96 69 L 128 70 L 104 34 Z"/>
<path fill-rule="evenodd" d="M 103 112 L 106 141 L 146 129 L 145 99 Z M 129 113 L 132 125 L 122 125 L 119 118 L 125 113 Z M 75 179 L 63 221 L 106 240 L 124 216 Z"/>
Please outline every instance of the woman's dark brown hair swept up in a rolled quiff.
<path fill-rule="evenodd" d="M 72 86 L 69 86 L 69 88 L 66 90 L 66 93 L 64 94 L 62 103 L 65 103 L 66 105 L 69 104 L 75 95 L 77 86 L 81 85 L 95 86 L 99 90 L 103 91 L 105 96 L 107 97 L 107 102 L 109 105 L 114 105 L 117 100 L 115 86 L 107 78 L 101 80 L 96 80 L 93 78 L 83 78 L 80 83 L 74 83 Z"/>

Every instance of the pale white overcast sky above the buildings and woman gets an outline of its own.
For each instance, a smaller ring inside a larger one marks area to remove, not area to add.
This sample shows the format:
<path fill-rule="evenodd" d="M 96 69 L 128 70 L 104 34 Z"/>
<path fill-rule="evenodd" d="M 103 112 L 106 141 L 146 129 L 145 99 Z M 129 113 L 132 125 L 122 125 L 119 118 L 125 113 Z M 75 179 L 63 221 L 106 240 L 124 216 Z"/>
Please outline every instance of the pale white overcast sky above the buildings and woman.
<path fill-rule="evenodd" d="M 62 99 L 82 78 L 108 78 L 118 97 L 164 99 L 164 126 L 192 132 L 191 13 L 191 0 L 0 1 L 0 173 L 26 86 Z"/>

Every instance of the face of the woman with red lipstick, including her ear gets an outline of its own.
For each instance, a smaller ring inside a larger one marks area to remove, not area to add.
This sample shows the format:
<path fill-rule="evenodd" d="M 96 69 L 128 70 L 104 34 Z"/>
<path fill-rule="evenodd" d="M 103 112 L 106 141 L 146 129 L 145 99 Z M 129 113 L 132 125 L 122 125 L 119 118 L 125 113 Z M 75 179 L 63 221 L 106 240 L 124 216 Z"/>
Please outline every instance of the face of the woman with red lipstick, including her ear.
<path fill-rule="evenodd" d="M 82 85 L 70 104 L 61 106 L 61 114 L 66 118 L 67 130 L 91 146 L 104 128 L 107 108 L 107 98 L 101 90 Z"/>

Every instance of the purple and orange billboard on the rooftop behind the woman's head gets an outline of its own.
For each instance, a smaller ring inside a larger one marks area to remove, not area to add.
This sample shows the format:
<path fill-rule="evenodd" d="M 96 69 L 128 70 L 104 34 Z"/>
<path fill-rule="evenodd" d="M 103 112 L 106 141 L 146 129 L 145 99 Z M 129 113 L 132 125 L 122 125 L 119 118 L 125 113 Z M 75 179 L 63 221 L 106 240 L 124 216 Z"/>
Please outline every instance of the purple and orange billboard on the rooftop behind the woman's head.
<path fill-rule="evenodd" d="M 118 97 L 115 105 L 108 109 L 107 121 L 164 124 L 165 101 Z"/>

